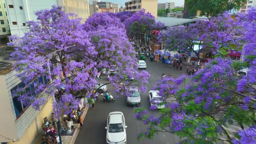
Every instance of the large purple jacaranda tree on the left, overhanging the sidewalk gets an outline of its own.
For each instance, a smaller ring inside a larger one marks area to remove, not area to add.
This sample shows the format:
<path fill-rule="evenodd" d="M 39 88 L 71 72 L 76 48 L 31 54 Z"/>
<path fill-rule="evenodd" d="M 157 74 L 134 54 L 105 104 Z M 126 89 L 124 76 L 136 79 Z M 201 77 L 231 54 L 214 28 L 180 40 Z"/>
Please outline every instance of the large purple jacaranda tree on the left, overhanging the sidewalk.
<path fill-rule="evenodd" d="M 25 88 L 16 93 L 24 105 L 32 104 L 39 109 L 46 101 L 43 94 L 48 93 L 55 95 L 55 114 L 59 117 L 64 111 L 70 115 L 81 98 L 92 98 L 97 74 L 111 65 L 116 65 L 117 70 L 116 76 L 111 77 L 115 88 L 121 81 L 129 85 L 129 80 L 124 79 L 127 76 L 134 77 L 136 86 L 146 90 L 143 84 L 147 83 L 149 74 L 137 72 L 135 51 L 118 18 L 104 13 L 99 18 L 96 14 L 94 21 L 89 18 L 82 25 L 76 15 L 65 14 L 56 6 L 35 14 L 37 21 L 28 22 L 30 32 L 9 44 L 15 47 L 12 60 L 15 70 L 19 71 L 18 77 L 25 83 Z M 41 76 L 46 76 L 48 83 L 34 82 Z M 36 94 L 26 91 L 31 85 Z M 63 87 L 65 92 L 60 94 Z"/>

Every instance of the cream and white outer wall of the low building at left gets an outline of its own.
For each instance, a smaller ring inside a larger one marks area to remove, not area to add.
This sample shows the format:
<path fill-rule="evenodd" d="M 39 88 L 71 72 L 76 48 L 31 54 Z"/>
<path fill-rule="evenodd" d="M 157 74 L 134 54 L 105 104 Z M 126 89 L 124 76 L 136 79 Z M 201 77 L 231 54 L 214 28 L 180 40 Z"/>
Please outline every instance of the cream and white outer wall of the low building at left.
<path fill-rule="evenodd" d="M 37 111 L 31 106 L 26 107 L 24 111 L 22 111 L 22 114 L 16 117 L 12 94 L 10 92 L 13 87 L 21 82 L 19 78 L 16 77 L 16 74 L 16 71 L 11 71 L 5 76 L 0 76 L 0 107 L 3 107 L 1 108 L 0 114 L 6 117 L 6 119 L 0 119 L 0 125 L 7 126 L 7 128 L 3 129 L 1 127 L 0 134 L 16 139 L 14 144 L 30 144 L 42 126 L 43 117 L 51 113 L 52 102 L 49 101 L 43 105 L 40 108 L 41 111 Z M 10 141 L 12 140 L 6 140 L 6 138 L 0 136 L 0 142 Z M 28 141 L 30 141 L 30 143 L 27 143 Z"/>

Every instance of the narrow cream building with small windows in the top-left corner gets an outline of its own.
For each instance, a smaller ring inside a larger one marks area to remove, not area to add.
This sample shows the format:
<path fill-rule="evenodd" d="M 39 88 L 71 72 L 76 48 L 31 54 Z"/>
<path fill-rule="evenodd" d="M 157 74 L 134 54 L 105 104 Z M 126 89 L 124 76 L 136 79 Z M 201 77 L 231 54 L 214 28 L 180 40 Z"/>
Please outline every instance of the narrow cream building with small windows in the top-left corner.
<path fill-rule="evenodd" d="M 4 0 L 0 0 L 0 22 L 0 44 L 6 44 L 9 42 L 10 27 Z"/>

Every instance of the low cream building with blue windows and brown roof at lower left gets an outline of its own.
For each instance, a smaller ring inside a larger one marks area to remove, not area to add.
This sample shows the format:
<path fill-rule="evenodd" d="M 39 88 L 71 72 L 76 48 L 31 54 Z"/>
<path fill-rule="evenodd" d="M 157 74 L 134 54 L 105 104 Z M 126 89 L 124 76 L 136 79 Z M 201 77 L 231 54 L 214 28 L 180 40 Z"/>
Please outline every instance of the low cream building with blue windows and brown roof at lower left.
<path fill-rule="evenodd" d="M 52 101 L 49 99 L 35 110 L 31 105 L 24 105 L 15 95 L 15 90 L 24 88 L 25 84 L 19 80 L 16 75 L 18 72 L 13 70 L 12 61 L 9 61 L 10 53 L 13 48 L 1 48 L 0 55 L 0 143 L 1 144 L 31 144 L 37 135 L 41 134 L 40 130 L 43 125 L 43 118 L 49 116 L 52 112 Z M 47 85 L 49 80 L 46 76 L 40 76 L 33 82 Z M 26 92 L 31 95 L 36 94 L 34 84 L 25 88 Z"/>

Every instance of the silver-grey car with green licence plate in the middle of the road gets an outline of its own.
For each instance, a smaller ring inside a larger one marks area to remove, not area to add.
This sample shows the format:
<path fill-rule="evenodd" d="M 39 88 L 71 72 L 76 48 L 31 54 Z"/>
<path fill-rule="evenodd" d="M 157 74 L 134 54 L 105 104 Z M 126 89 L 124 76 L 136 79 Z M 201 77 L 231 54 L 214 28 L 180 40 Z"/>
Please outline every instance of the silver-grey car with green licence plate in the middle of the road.
<path fill-rule="evenodd" d="M 138 88 L 127 88 L 129 88 L 129 93 L 131 94 L 127 96 L 127 105 L 140 105 L 140 91 L 138 90 Z"/>

